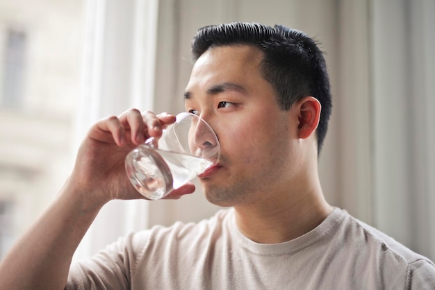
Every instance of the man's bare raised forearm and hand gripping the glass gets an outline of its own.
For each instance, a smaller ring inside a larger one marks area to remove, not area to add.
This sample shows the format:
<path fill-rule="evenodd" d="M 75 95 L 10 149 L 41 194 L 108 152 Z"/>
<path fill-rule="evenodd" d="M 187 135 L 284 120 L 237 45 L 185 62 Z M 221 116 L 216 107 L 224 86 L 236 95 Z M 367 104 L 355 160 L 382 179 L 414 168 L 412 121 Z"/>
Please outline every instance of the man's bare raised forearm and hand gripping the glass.
<path fill-rule="evenodd" d="M 144 198 L 126 176 L 127 153 L 148 137 L 160 137 L 162 129 L 174 121 L 171 114 L 129 110 L 92 126 L 60 194 L 1 261 L 1 287 L 63 289 L 72 255 L 101 207 L 115 198 Z M 190 183 L 166 198 L 194 190 Z"/>

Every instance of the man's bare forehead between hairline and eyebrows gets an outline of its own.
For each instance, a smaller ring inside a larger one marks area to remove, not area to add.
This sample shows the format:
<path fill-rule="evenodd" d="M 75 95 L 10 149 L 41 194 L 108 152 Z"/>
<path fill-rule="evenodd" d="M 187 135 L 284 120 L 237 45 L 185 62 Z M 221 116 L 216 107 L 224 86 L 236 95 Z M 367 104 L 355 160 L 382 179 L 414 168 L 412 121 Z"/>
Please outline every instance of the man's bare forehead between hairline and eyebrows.
<path fill-rule="evenodd" d="M 249 83 L 262 78 L 263 53 L 254 46 L 216 46 L 195 62 L 186 91 L 213 83 Z"/>

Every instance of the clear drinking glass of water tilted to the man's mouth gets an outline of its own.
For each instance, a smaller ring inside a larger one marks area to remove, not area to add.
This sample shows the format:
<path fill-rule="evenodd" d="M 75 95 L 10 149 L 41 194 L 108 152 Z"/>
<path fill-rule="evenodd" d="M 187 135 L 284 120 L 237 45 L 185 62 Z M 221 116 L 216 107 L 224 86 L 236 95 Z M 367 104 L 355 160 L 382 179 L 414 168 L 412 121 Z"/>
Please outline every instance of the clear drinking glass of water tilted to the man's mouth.
<path fill-rule="evenodd" d="M 195 114 L 177 114 L 159 139 L 151 137 L 125 159 L 131 184 L 146 198 L 160 199 L 216 164 L 220 145 L 211 126 Z"/>

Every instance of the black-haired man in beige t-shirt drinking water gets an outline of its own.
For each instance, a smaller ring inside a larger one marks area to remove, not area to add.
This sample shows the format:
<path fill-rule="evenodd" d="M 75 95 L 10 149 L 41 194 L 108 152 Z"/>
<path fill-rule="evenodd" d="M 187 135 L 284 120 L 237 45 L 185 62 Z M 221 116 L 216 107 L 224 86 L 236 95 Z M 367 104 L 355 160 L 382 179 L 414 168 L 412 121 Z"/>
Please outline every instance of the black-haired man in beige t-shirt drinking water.
<path fill-rule="evenodd" d="M 129 110 L 93 126 L 53 205 L 0 268 L 6 289 L 433 289 L 435 266 L 325 201 L 318 153 L 331 96 L 325 60 L 304 33 L 222 24 L 198 31 L 186 111 L 220 140 L 201 176 L 211 203 L 197 224 L 130 234 L 71 266 L 101 207 L 141 198 L 124 157 L 171 114 Z M 172 191 L 179 198 L 192 184 Z"/>

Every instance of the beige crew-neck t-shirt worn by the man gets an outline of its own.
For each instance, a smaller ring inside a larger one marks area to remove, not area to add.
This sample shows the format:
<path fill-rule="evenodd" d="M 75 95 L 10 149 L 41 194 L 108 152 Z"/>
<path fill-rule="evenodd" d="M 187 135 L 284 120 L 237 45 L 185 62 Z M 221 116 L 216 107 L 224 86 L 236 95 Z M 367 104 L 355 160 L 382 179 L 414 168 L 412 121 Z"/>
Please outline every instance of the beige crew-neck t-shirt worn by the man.
<path fill-rule="evenodd" d="M 435 289 L 435 266 L 339 208 L 282 244 L 247 239 L 228 209 L 129 234 L 73 265 L 66 289 Z"/>

